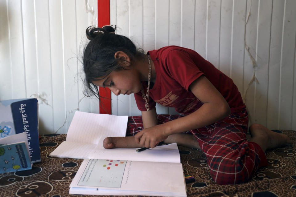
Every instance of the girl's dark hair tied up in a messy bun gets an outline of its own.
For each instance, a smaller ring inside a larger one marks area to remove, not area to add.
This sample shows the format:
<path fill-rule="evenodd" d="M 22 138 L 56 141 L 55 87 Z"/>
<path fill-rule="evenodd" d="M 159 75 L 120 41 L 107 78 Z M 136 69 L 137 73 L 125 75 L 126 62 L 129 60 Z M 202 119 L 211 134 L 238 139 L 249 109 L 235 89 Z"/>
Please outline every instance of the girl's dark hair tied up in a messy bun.
<path fill-rule="evenodd" d="M 83 54 L 84 95 L 87 97 L 95 95 L 100 100 L 98 87 L 92 81 L 103 79 L 114 70 L 125 69 L 121 66 L 124 60 L 114 58 L 117 51 L 125 52 L 131 61 L 144 57 L 142 49 L 138 50 L 129 38 L 115 34 L 115 29 L 112 25 L 86 29 L 90 40 Z"/>

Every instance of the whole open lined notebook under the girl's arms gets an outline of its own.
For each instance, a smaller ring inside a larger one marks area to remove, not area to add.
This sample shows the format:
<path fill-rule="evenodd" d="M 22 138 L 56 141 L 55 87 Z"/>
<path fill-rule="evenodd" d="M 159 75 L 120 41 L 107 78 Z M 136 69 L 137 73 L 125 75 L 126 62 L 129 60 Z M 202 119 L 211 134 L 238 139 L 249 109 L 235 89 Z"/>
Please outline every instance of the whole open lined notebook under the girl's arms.
<path fill-rule="evenodd" d="M 142 152 L 136 152 L 138 148 L 105 149 L 103 141 L 106 137 L 125 136 L 127 119 L 128 116 L 76 111 L 66 141 L 52 151 L 50 156 L 180 163 L 176 143 Z"/>

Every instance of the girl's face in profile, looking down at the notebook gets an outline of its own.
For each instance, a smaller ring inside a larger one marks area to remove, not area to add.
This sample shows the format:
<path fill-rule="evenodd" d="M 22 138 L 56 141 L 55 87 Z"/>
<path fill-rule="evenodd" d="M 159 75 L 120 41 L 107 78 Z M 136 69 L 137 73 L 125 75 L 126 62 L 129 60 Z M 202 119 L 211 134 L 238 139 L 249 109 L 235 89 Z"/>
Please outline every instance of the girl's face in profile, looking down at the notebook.
<path fill-rule="evenodd" d="M 92 81 L 92 83 L 100 87 L 108 87 L 115 95 L 130 95 L 141 90 L 140 75 L 134 68 L 112 71 L 105 78 Z"/>

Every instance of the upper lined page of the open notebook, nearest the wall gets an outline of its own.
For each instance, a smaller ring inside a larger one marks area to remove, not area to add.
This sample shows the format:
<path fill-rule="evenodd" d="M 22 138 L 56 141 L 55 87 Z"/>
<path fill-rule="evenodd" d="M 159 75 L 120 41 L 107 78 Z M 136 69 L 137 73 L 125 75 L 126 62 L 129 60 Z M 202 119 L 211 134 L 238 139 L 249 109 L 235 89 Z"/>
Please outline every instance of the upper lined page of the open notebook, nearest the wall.
<path fill-rule="evenodd" d="M 97 144 L 100 138 L 125 136 L 128 116 L 76 111 L 67 141 Z"/>

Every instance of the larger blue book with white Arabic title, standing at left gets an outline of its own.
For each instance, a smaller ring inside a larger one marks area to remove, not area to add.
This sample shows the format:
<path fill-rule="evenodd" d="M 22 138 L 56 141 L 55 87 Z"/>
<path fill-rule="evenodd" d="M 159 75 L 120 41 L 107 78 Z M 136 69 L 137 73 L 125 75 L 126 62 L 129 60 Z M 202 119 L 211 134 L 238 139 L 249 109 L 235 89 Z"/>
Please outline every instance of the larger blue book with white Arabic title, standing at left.
<path fill-rule="evenodd" d="M 0 101 L 0 139 L 25 132 L 31 163 L 39 162 L 38 100 L 36 98 Z"/>

